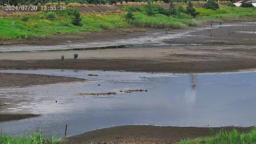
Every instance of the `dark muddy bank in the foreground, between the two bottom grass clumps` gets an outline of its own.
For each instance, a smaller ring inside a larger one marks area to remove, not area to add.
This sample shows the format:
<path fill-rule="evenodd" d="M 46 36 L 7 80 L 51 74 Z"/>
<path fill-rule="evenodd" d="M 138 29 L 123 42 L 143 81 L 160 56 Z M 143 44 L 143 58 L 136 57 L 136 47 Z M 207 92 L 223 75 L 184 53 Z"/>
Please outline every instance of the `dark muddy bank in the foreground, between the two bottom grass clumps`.
<path fill-rule="evenodd" d="M 234 127 L 222 127 L 231 130 Z M 248 132 L 251 127 L 235 127 L 239 132 Z M 221 128 L 215 128 L 219 131 Z M 176 144 L 184 138 L 210 136 L 208 127 L 159 127 L 148 125 L 117 126 L 85 132 L 68 137 L 68 143 L 82 144 Z"/>

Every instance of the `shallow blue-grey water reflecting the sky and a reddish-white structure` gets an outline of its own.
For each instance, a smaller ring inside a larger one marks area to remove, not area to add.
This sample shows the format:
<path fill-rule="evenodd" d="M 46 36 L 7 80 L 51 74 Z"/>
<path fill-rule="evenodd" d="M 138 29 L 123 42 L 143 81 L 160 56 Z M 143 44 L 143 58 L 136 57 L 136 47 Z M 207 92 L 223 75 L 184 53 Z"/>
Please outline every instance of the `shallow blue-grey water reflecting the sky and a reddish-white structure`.
<path fill-rule="evenodd" d="M 96 80 L 13 88 L 51 99 L 31 106 L 42 117 L 1 123 L 10 134 L 24 134 L 37 127 L 44 133 L 63 136 L 116 125 L 248 126 L 255 124 L 256 72 L 173 75 L 74 70 L 0 70 L 0 72 L 61 75 Z M 87 76 L 97 74 L 99 76 Z M 101 84 L 98 86 L 98 84 Z M 148 92 L 111 96 L 79 93 L 146 89 Z M 2 88 L 0 93 L 10 89 Z M 55 100 L 58 102 L 55 103 Z M 23 104 L 28 106 L 28 104 Z M 22 106 L 21 108 L 22 109 Z"/>

